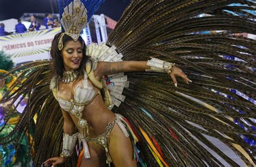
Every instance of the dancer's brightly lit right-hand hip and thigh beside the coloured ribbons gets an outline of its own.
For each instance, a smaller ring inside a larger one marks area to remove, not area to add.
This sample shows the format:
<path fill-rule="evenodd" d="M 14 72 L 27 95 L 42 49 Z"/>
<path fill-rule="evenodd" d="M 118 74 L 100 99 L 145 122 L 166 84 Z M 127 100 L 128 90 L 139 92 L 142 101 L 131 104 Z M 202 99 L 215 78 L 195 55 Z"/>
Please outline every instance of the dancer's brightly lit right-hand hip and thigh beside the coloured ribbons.
<path fill-rule="evenodd" d="M 117 124 L 114 124 L 110 134 L 109 152 L 114 166 L 137 166 L 130 137 L 125 137 Z"/>

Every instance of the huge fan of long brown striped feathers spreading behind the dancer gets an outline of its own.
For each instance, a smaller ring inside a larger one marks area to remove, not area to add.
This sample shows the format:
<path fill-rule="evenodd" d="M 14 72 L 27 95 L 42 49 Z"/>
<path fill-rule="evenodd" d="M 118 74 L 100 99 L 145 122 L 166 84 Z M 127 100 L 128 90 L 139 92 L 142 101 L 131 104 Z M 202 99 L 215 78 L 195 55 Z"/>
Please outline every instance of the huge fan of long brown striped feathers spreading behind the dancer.
<path fill-rule="evenodd" d="M 255 15 L 248 12 L 255 7 L 248 0 L 134 0 L 125 9 L 107 45 L 115 46 L 123 60 L 175 62 L 193 81 L 187 85 L 178 79 L 175 87 L 164 73 L 126 73 L 126 98 L 112 111 L 131 123 L 141 165 L 241 165 L 223 148 L 244 165 L 255 165 L 255 145 L 243 137 L 255 140 L 256 107 L 248 99 L 255 98 L 256 41 L 236 35 L 256 34 Z M 206 15 L 197 17 L 201 14 Z M 10 73 L 20 70 L 22 86 L 4 99 L 23 95 L 28 105 L 0 143 L 17 143 L 35 119 L 30 147 L 35 149 L 33 163 L 41 166 L 62 149 L 63 117 L 49 89 L 51 61 L 31 62 Z M 223 147 L 215 145 L 216 138 Z M 75 166 L 76 155 L 71 159 L 66 165 Z"/>

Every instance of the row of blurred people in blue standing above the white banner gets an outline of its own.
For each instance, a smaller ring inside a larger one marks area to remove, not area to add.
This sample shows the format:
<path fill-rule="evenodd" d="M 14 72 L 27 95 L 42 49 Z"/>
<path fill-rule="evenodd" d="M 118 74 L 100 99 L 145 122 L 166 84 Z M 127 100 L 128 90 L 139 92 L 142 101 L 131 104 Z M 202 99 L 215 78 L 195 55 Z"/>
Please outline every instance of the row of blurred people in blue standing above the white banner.
<path fill-rule="evenodd" d="M 15 32 L 16 33 L 24 33 L 27 31 L 38 31 L 41 30 L 41 24 L 37 22 L 36 18 L 34 16 L 30 17 L 30 26 L 27 29 L 24 24 L 22 24 L 22 20 L 18 19 L 18 24 L 15 25 Z M 53 19 L 51 13 L 46 13 L 45 18 L 43 20 L 45 29 L 53 29 L 56 27 L 60 27 L 60 23 L 58 19 Z M 7 36 L 10 33 L 6 32 L 4 29 L 5 25 L 4 23 L 0 23 L 0 36 Z"/>

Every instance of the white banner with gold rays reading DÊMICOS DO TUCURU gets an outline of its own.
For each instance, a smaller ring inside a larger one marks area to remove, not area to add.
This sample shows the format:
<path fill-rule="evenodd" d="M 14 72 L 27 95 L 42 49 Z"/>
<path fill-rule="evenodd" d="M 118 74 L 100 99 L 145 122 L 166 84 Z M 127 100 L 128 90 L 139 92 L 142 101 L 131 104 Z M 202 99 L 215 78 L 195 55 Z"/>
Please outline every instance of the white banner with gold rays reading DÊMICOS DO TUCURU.
<path fill-rule="evenodd" d="M 58 32 L 60 28 L 0 37 L 0 50 L 16 63 L 49 59 L 51 42 Z"/>

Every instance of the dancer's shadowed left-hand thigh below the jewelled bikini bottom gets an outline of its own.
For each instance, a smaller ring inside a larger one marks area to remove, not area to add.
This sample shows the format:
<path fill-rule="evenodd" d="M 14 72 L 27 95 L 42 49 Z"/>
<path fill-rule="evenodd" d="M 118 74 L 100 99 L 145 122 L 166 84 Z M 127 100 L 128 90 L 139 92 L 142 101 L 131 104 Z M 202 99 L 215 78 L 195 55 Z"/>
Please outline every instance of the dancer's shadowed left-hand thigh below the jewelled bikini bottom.
<path fill-rule="evenodd" d="M 101 167 L 106 165 L 105 151 L 98 147 L 95 143 L 88 142 L 91 158 L 85 159 L 84 155 L 80 167 Z"/>

